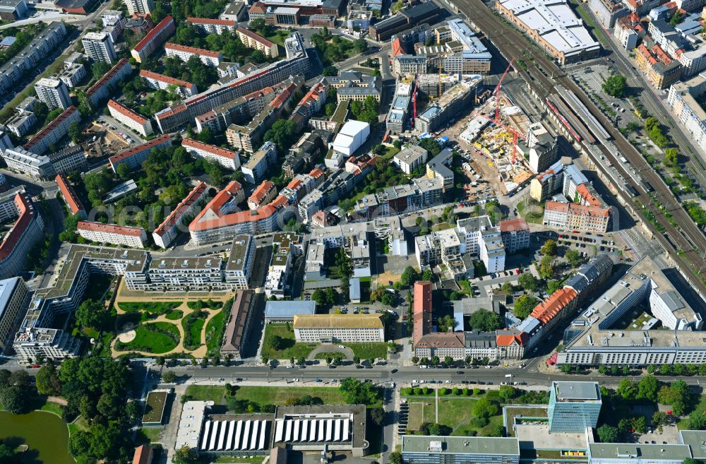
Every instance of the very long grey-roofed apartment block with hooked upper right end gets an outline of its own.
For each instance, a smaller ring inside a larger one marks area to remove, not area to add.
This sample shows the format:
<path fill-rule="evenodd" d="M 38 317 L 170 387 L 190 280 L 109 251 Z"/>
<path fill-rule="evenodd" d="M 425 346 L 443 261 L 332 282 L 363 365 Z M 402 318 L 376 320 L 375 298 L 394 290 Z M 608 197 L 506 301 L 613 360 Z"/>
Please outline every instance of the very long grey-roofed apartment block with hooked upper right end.
<path fill-rule="evenodd" d="M 287 59 L 275 61 L 263 69 L 249 73 L 232 81 L 187 98 L 172 107 L 155 114 L 162 133 L 189 124 L 193 118 L 210 111 L 214 107 L 231 102 L 239 97 L 260 90 L 269 85 L 286 81 L 290 76 L 304 76 L 309 69 L 309 58 L 304 47 L 304 39 L 296 32 L 285 40 Z"/>

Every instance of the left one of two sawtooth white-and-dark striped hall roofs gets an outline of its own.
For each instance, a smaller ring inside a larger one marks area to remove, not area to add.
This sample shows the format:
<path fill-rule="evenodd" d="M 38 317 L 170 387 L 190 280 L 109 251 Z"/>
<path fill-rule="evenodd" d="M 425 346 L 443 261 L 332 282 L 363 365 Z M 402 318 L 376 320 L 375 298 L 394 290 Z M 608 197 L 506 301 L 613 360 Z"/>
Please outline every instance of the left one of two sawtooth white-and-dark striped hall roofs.
<path fill-rule="evenodd" d="M 201 451 L 264 450 L 266 420 L 207 420 L 201 435 Z"/>

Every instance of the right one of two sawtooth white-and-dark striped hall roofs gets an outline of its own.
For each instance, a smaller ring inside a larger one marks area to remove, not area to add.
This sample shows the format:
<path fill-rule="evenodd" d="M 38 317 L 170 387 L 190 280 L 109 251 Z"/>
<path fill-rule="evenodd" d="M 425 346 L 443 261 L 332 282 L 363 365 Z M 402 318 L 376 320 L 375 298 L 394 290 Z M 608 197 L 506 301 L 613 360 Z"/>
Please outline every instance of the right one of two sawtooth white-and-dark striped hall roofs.
<path fill-rule="evenodd" d="M 277 419 L 275 443 L 351 441 L 350 417 L 332 419 Z"/>

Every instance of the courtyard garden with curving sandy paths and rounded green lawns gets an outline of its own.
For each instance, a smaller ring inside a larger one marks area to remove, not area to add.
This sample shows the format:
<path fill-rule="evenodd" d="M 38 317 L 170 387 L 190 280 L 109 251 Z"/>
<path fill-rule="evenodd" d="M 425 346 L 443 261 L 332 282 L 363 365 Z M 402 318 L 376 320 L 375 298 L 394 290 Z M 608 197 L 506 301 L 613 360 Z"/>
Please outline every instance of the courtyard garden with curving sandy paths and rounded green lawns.
<path fill-rule="evenodd" d="M 184 352 L 193 357 L 206 357 L 217 355 L 220 350 L 227 319 L 224 311 L 230 311 L 230 304 L 213 299 L 189 302 L 150 299 L 119 301 L 115 309 L 118 334 L 112 344 L 112 355 Z"/>

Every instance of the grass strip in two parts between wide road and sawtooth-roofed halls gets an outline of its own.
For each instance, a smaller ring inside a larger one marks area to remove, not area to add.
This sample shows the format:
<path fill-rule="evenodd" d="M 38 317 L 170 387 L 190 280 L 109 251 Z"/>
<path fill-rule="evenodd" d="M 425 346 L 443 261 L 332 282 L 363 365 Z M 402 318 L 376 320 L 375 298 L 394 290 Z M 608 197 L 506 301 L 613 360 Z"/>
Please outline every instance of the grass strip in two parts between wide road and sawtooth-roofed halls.
<path fill-rule="evenodd" d="M 225 386 L 190 385 L 186 387 L 186 395 L 191 395 L 194 400 L 213 400 L 216 404 L 225 404 Z M 336 387 L 241 386 L 235 393 L 235 398 L 264 406 L 283 405 L 287 398 L 299 398 L 304 395 L 321 398 L 323 403 L 329 405 L 344 404 L 343 397 Z"/>

